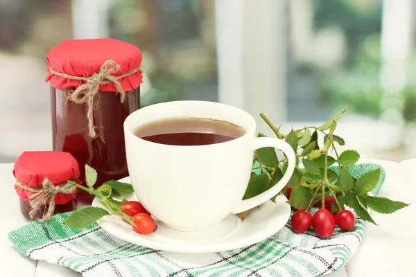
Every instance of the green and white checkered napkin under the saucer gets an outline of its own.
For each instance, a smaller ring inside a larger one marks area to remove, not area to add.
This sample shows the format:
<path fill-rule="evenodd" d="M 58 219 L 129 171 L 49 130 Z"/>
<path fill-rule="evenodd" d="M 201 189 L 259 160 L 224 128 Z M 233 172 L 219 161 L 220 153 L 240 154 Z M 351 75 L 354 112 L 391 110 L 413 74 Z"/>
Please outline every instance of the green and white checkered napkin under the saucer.
<path fill-rule="evenodd" d="M 356 165 L 354 177 L 381 166 Z M 338 168 L 333 168 L 338 170 Z M 385 178 L 372 193 L 377 195 Z M 140 247 L 114 238 L 97 224 L 71 229 L 56 215 L 45 224 L 37 221 L 9 233 L 17 250 L 35 260 L 45 260 L 80 272 L 83 276 L 322 276 L 343 267 L 363 240 L 365 222 L 356 230 L 336 228 L 330 240 L 320 240 L 312 230 L 295 234 L 291 222 L 267 240 L 218 253 L 171 253 Z M 259 226 L 261 228 L 261 226 Z"/>

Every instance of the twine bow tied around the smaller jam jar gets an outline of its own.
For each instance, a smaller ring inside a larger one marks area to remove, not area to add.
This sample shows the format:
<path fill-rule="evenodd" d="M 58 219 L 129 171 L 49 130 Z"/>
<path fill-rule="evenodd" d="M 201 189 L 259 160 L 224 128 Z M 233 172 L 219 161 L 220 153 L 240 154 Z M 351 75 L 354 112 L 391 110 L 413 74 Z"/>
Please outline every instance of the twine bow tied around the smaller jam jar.
<path fill-rule="evenodd" d="M 16 186 L 33 193 L 33 195 L 29 197 L 28 201 L 32 207 L 31 211 L 29 212 L 29 217 L 31 220 L 34 220 L 37 213 L 49 202 L 48 211 L 42 217 L 42 220 L 48 221 L 52 217 L 53 211 L 55 211 L 55 196 L 60 193 L 71 195 L 76 191 L 76 187 L 72 186 L 71 184 L 63 183 L 55 185 L 46 177 L 42 182 L 42 188 L 33 188 L 21 183 L 18 180 L 16 182 Z"/>

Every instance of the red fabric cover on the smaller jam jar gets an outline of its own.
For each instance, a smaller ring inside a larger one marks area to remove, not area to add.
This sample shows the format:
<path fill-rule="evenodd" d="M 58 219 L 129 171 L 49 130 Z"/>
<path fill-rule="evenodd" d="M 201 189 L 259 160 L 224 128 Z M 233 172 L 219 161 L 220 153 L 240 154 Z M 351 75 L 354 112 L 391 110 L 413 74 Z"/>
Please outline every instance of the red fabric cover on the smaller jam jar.
<path fill-rule="evenodd" d="M 13 175 L 17 181 L 33 188 L 42 188 L 44 178 L 53 184 L 65 184 L 68 180 L 80 176 L 78 162 L 71 154 L 58 151 L 30 151 L 23 152 L 13 168 Z M 33 194 L 15 185 L 17 195 L 26 201 Z M 78 192 L 78 188 L 76 193 Z M 55 204 L 66 204 L 75 198 L 76 193 L 66 195 L 60 193 L 55 196 Z"/>

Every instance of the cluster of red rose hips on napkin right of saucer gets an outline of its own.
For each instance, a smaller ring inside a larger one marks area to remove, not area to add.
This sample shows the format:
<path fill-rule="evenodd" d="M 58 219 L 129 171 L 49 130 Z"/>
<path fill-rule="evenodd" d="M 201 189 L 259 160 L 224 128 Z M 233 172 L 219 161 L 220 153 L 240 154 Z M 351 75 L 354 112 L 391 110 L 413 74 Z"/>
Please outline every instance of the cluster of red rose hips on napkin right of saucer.
<path fill-rule="evenodd" d="M 343 231 L 354 230 L 354 214 L 344 208 L 341 211 L 331 213 L 333 201 L 333 196 L 329 195 L 324 198 L 324 205 L 322 205 L 322 200 L 316 202 L 315 205 L 320 207 L 320 209 L 313 216 L 305 210 L 295 211 L 292 215 L 293 231 L 296 233 L 304 233 L 312 226 L 313 231 L 315 231 L 319 238 L 327 239 L 331 237 L 335 230 L 335 225 L 338 225 Z"/>

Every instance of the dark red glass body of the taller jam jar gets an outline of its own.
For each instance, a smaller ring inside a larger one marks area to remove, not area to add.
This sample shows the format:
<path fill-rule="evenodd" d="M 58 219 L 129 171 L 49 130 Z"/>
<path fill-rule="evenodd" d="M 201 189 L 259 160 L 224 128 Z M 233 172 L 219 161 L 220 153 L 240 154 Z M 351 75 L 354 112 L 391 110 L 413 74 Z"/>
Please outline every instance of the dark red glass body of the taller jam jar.
<path fill-rule="evenodd" d="M 72 91 L 51 86 L 53 150 L 72 154 L 80 166 L 80 181 L 85 181 L 85 164 L 97 171 L 96 186 L 127 177 L 123 123 L 140 107 L 139 87 L 126 91 L 124 102 L 113 91 L 99 91 L 94 96 L 95 138 L 89 136 L 87 103 L 69 100 Z M 78 199 L 92 202 L 92 196 L 82 195 L 85 193 L 81 192 Z"/>

